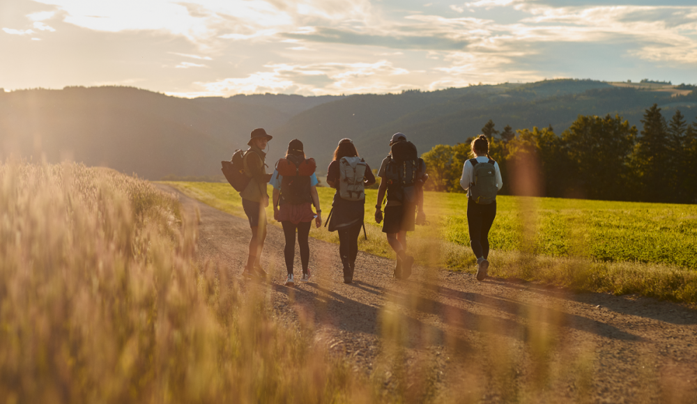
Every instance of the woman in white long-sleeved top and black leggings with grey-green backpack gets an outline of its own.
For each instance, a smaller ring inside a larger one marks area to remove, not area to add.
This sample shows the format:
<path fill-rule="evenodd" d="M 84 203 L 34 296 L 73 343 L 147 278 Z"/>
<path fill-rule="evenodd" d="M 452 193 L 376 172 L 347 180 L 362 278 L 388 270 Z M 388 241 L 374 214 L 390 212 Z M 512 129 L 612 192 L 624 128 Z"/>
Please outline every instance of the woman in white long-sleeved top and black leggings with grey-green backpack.
<path fill-rule="evenodd" d="M 477 281 L 489 269 L 489 230 L 496 217 L 496 193 L 503 187 L 498 163 L 489 157 L 489 140 L 483 134 L 471 143 L 474 158 L 462 166 L 460 186 L 467 191 L 467 225 L 470 246 L 477 257 Z"/>

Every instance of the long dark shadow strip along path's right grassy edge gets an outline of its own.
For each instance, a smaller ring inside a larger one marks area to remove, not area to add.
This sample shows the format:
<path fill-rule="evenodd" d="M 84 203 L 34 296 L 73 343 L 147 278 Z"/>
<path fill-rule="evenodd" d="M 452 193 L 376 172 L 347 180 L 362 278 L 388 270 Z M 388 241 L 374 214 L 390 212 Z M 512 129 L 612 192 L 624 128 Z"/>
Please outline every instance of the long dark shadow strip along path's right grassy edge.
<path fill-rule="evenodd" d="M 496 283 L 497 286 L 514 288 L 520 290 L 524 288 L 530 293 L 557 297 L 571 302 L 589 304 L 591 306 L 600 305 L 615 313 L 652 318 L 653 320 L 663 321 L 675 325 L 696 325 L 697 311 L 688 309 L 674 302 L 666 302 L 652 297 L 639 297 L 637 300 L 629 300 L 627 297 L 615 296 L 609 293 L 593 292 L 574 292 L 573 290 L 559 288 L 549 288 L 535 283 L 526 283 L 521 287 L 521 283 L 511 282 L 508 279 L 493 278 L 488 279 Z"/>

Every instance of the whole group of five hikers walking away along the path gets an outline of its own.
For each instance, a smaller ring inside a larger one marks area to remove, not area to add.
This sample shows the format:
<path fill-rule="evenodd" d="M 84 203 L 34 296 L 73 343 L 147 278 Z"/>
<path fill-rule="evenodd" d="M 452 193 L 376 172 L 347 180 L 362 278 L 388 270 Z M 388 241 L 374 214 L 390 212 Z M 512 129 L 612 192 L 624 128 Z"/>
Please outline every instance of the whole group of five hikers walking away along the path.
<path fill-rule="evenodd" d="M 281 222 L 285 236 L 284 258 L 286 262 L 286 286 L 295 283 L 296 237 L 300 247 L 302 277 L 309 281 L 309 230 L 314 222 L 322 224 L 322 210 L 316 186 L 319 183 L 314 159 L 307 158 L 302 141 L 293 139 L 288 144 L 284 158 L 275 164 L 273 173 L 266 173 L 266 149 L 273 137 L 266 130 L 252 130 L 247 150 L 237 150 L 230 162 L 222 162 L 223 173 L 240 192 L 242 205 L 250 222 L 249 256 L 243 276 L 266 278 L 260 264 L 261 251 L 266 240 L 266 207 L 273 203 L 273 218 Z M 390 153 L 385 157 L 378 177 L 380 185 L 375 205 L 375 221 L 383 224 L 390 247 L 395 251 L 397 263 L 394 276 L 407 279 L 411 275 L 414 257 L 406 252 L 406 232 L 415 224 L 426 224 L 423 185 L 429 178 L 424 160 L 417 149 L 402 133 L 390 138 Z M 483 134 L 471 143 L 474 157 L 466 160 L 462 168 L 460 185 L 467 191 L 467 222 L 470 245 L 477 257 L 477 280 L 487 277 L 489 268 L 489 230 L 496 217 L 496 192 L 503 186 L 498 163 L 489 157 L 489 141 Z M 334 151 L 327 170 L 327 184 L 336 189 L 332 210 L 325 226 L 339 233 L 339 256 L 342 261 L 344 283 L 353 281 L 355 259 L 358 255 L 358 238 L 363 228 L 365 234 L 365 187 L 376 182 L 370 166 L 358 155 L 351 139 L 341 139 Z M 273 187 L 271 198 L 267 184 Z M 386 199 L 385 199 L 386 196 Z M 383 199 L 385 206 L 383 209 Z M 314 211 L 312 207 L 314 206 Z"/>

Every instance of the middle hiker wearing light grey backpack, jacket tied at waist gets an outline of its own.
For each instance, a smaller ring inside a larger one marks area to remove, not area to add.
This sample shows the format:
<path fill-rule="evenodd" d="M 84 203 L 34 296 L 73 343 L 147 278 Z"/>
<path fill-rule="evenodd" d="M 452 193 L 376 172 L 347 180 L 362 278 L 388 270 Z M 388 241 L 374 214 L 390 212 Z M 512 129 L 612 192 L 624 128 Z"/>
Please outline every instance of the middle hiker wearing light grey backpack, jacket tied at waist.
<path fill-rule="evenodd" d="M 339 141 L 339 146 L 334 151 L 334 160 L 327 170 L 327 184 L 337 189 L 327 223 L 329 231 L 339 232 L 339 255 L 342 258 L 344 283 L 353 281 L 361 227 L 364 227 L 365 233 L 365 187 L 374 183 L 375 176 L 365 160 L 358 156 L 353 141 Z"/>

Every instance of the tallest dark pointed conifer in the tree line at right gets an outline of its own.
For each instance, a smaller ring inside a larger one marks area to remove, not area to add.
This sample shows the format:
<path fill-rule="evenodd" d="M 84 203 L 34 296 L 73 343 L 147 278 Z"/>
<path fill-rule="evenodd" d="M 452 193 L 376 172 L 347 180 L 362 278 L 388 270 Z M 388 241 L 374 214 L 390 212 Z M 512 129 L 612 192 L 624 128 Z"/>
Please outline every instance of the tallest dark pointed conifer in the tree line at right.
<path fill-rule="evenodd" d="M 670 176 L 666 175 L 666 166 L 671 164 L 671 142 L 666 119 L 661 115 L 658 104 L 645 110 L 641 123 L 643 129 L 636 142 L 631 164 L 638 180 L 636 199 L 648 202 L 671 201 L 673 198 L 668 194 L 671 189 L 668 183 Z"/>

